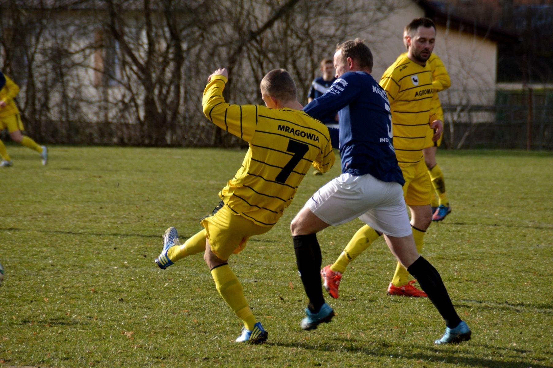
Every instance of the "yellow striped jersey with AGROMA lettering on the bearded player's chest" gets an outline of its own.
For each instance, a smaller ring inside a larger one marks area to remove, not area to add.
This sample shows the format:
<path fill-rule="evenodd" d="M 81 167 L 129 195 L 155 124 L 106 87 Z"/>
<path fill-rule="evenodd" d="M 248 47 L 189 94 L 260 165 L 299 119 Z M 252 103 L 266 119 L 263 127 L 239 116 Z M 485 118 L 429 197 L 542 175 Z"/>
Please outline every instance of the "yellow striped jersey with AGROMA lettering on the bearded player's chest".
<path fill-rule="evenodd" d="M 400 165 L 422 159 L 429 124 L 439 118 L 432 104 L 434 87 L 428 63 L 425 66 L 400 56 L 380 78 L 388 94 L 394 135 L 395 156 Z"/>

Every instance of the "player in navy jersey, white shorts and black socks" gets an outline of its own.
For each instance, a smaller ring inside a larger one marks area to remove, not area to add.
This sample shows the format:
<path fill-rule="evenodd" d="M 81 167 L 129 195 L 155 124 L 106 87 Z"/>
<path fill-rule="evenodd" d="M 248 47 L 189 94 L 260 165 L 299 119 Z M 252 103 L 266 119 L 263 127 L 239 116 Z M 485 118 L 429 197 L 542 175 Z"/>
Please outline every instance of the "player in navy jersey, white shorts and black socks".
<path fill-rule="evenodd" d="M 339 44 L 334 55 L 337 80 L 324 96 L 304 107 L 314 118 L 339 111 L 339 131 L 329 130 L 332 146 L 340 149 L 342 174 L 322 186 L 290 225 L 296 264 L 309 298 L 301 328 L 315 329 L 334 315 L 322 295 L 317 232 L 358 217 L 384 235 L 390 251 L 416 277 L 445 319 L 446 332 L 435 343 L 469 340 L 471 330 L 453 308 L 440 274 L 416 250 L 392 142 L 390 105 L 371 76 L 372 60 L 362 40 Z"/>

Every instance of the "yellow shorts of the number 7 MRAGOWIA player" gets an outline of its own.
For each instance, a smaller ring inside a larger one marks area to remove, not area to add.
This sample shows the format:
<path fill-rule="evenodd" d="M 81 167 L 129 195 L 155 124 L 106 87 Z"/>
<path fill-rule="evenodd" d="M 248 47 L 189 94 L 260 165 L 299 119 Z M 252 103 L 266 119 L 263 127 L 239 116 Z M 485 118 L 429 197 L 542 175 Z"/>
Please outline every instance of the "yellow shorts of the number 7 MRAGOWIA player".
<path fill-rule="evenodd" d="M 256 225 L 246 217 L 234 214 L 227 205 L 205 217 L 201 224 L 206 229 L 211 251 L 223 261 L 228 260 L 232 253 L 243 251 L 251 236 L 264 234 L 272 229 L 272 226 Z"/>

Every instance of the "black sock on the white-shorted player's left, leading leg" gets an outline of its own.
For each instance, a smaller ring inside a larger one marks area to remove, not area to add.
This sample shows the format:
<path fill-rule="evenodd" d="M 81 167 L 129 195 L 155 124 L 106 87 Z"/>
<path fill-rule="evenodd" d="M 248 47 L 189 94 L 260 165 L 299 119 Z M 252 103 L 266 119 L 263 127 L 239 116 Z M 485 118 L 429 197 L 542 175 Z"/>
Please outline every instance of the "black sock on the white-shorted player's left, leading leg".
<path fill-rule="evenodd" d="M 301 282 L 304 284 L 305 293 L 309 298 L 308 308 L 311 312 L 318 313 L 325 304 L 322 296 L 321 285 L 321 247 L 317 242 L 316 234 L 295 235 L 294 251 L 296 252 L 296 265 L 300 272 Z"/>

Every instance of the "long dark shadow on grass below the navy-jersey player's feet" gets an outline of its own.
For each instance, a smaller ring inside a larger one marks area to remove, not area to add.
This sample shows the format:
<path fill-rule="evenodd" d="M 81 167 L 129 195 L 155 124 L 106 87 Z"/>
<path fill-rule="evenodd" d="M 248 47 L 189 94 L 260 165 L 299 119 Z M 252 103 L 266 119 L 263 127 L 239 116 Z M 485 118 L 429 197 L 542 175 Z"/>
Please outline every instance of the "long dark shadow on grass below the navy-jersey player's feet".
<path fill-rule="evenodd" d="M 372 345 L 372 346 L 367 346 Z M 389 351 L 387 349 L 391 348 L 392 345 L 386 343 L 385 341 L 354 341 L 354 344 L 363 344 L 363 346 L 356 346 L 352 344 L 351 340 L 348 341 L 342 341 L 337 342 L 336 344 L 324 344 L 324 345 L 310 345 L 309 343 L 265 343 L 266 345 L 273 345 L 273 346 L 283 346 L 284 348 L 301 348 L 306 350 L 315 350 L 315 351 L 340 351 L 340 352 L 348 352 L 348 353 L 358 353 L 358 354 L 365 354 L 373 357 L 382 357 L 384 359 L 390 359 L 390 357 L 393 359 L 394 357 L 398 360 L 403 359 L 413 359 L 413 360 L 422 360 L 427 362 L 441 362 L 441 363 L 447 363 L 447 364 L 453 364 L 453 365 L 468 365 L 473 367 L 486 367 L 486 368 L 521 368 L 521 367 L 532 367 L 532 368 L 551 368 L 550 365 L 541 365 L 536 364 L 536 360 L 530 360 L 527 359 L 526 361 L 519 360 L 516 362 L 508 362 L 508 361 L 502 361 L 502 360 L 494 360 L 493 358 L 486 359 L 481 357 L 466 357 L 466 356 L 459 356 L 457 351 L 451 352 L 446 349 L 453 348 L 456 345 L 448 345 L 442 347 L 438 346 L 429 346 L 429 345 L 411 345 L 410 347 L 413 349 L 420 349 L 420 350 L 429 350 L 433 354 L 429 353 L 405 353 L 401 352 L 398 353 L 397 351 Z M 509 349 L 509 348 L 501 348 L 499 346 L 489 346 L 486 344 L 478 344 L 474 342 L 469 343 L 463 343 L 463 344 L 471 344 L 476 345 L 478 348 L 483 349 L 489 349 L 490 351 L 497 351 L 497 350 L 510 350 L 513 354 L 520 354 L 520 353 L 528 353 L 528 351 L 520 350 L 520 349 Z M 467 352 L 468 354 L 468 352 Z M 506 357 L 505 355 L 502 355 L 502 357 Z M 507 356 L 507 359 L 520 359 L 520 356 Z M 546 363 L 547 364 L 547 363 Z"/>

